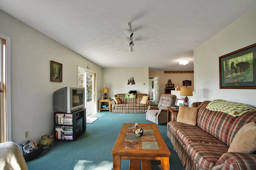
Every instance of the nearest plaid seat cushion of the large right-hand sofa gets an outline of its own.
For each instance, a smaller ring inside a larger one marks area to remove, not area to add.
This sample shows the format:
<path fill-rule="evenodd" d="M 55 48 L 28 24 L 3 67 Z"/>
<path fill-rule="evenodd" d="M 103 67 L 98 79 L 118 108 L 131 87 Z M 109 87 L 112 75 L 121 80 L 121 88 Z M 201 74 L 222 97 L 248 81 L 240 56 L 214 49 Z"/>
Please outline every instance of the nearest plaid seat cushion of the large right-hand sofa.
<path fill-rule="evenodd" d="M 220 156 L 228 151 L 228 146 L 191 142 L 187 145 L 188 153 L 195 160 L 198 169 L 210 170 Z"/>

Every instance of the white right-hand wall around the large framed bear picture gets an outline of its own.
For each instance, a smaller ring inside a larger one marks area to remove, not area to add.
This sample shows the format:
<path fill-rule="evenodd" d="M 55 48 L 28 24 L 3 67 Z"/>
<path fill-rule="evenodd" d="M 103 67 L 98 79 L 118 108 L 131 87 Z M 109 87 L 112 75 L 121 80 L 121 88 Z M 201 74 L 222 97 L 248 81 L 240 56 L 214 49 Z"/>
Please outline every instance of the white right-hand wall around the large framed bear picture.
<path fill-rule="evenodd" d="M 220 89 L 219 57 L 256 43 L 256 8 L 195 49 L 195 95 L 190 102 L 223 99 L 256 107 L 256 89 Z"/>

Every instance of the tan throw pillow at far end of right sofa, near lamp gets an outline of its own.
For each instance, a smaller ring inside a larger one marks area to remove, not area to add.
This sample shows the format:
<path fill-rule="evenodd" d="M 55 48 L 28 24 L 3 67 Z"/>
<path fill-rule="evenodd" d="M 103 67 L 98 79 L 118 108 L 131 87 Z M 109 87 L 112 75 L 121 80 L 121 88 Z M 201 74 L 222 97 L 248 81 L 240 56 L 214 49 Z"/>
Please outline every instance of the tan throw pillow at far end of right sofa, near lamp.
<path fill-rule="evenodd" d="M 179 106 L 177 122 L 196 125 L 198 107 Z"/>

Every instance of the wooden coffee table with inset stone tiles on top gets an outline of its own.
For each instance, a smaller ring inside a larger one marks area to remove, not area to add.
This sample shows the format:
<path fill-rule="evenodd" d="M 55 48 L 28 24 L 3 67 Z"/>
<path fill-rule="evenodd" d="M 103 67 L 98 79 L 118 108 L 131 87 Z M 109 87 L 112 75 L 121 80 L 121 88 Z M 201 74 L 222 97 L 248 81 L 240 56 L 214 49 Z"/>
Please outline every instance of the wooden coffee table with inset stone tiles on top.
<path fill-rule="evenodd" d="M 112 149 L 113 170 L 120 170 L 121 159 L 130 159 L 129 169 L 152 169 L 150 160 L 160 160 L 161 169 L 169 170 L 170 150 L 154 123 L 140 123 L 144 133 L 136 137 L 133 133 L 135 123 L 124 123 Z"/>

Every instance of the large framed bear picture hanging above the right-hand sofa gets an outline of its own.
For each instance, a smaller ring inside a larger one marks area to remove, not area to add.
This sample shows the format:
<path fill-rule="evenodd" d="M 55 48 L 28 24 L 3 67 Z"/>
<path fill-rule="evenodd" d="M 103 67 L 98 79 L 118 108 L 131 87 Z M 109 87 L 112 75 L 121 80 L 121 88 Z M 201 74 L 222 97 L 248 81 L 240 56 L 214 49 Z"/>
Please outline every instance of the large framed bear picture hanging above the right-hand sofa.
<path fill-rule="evenodd" d="M 256 89 L 256 43 L 219 57 L 220 88 Z"/>

